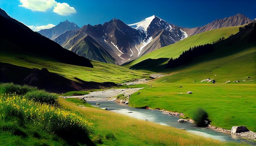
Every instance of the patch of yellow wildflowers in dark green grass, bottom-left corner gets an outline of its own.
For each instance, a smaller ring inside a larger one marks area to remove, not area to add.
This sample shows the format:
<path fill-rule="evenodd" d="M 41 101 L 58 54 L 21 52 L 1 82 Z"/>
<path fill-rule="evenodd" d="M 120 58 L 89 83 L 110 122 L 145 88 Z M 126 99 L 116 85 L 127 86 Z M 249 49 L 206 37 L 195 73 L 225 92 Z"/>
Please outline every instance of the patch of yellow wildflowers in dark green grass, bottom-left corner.
<path fill-rule="evenodd" d="M 86 137 L 93 132 L 93 124 L 88 122 L 85 115 L 45 102 L 36 102 L 34 98 L 28 99 L 27 93 L 23 96 L 15 93 L 1 94 L 0 145 L 10 142 L 16 145 L 90 144 L 90 139 Z M 34 97 L 44 100 L 45 93 L 39 91 Z M 3 137 L 9 139 L 9 142 L 5 142 Z M 23 140 L 20 141 L 21 138 Z"/>

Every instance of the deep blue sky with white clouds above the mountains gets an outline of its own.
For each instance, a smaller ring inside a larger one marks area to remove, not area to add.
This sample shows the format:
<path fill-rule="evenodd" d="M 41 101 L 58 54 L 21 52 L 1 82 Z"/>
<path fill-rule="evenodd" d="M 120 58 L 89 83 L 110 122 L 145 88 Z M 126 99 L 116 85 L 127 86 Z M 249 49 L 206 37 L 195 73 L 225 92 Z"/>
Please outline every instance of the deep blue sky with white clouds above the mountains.
<path fill-rule="evenodd" d="M 179 27 L 193 28 L 237 13 L 256 18 L 256 0 L 0 0 L 0 8 L 34 30 L 66 19 L 82 27 L 112 18 L 132 24 L 157 15 Z"/>

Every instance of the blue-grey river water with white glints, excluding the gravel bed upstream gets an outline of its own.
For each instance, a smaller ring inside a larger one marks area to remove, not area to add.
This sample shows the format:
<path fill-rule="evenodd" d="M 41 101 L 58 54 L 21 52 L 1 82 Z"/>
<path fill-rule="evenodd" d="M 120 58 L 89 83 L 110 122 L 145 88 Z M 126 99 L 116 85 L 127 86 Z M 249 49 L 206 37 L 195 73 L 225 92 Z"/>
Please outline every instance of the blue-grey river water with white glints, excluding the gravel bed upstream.
<path fill-rule="evenodd" d="M 240 137 L 237 137 L 236 135 L 230 135 L 226 133 L 221 133 L 218 131 L 214 131 L 211 128 L 200 128 L 196 127 L 193 123 L 179 123 L 177 120 L 178 117 L 170 116 L 168 114 L 164 114 L 161 111 L 156 110 L 146 110 L 146 109 L 140 109 L 140 108 L 132 108 L 129 106 L 124 106 L 121 104 L 118 104 L 111 101 L 100 101 L 100 100 L 88 100 L 87 102 L 93 106 L 97 105 L 99 108 L 107 109 L 108 111 L 113 111 L 116 113 L 128 115 L 130 117 L 134 117 L 137 119 L 142 119 L 146 121 L 155 122 L 162 125 L 172 126 L 175 128 L 184 129 L 186 131 L 189 131 L 191 133 L 201 135 L 204 137 L 211 137 L 213 139 L 218 139 L 220 141 L 224 142 L 238 142 L 238 143 L 247 143 L 250 145 L 255 145 L 256 142 L 252 142 L 249 140 L 241 139 Z"/>

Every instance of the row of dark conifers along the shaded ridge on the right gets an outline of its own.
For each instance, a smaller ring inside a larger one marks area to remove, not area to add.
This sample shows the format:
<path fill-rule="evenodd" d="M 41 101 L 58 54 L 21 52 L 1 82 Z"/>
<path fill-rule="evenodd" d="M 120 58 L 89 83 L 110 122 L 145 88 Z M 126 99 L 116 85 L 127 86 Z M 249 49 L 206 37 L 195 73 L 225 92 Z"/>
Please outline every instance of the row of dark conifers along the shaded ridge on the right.
<path fill-rule="evenodd" d="M 180 65 L 183 65 L 189 61 L 191 61 L 193 58 L 204 55 L 206 53 L 210 53 L 213 51 L 213 45 L 212 44 L 204 44 L 199 46 L 190 47 L 189 50 L 183 51 L 183 53 L 178 58 L 171 58 L 167 63 L 167 68 L 173 68 Z"/>

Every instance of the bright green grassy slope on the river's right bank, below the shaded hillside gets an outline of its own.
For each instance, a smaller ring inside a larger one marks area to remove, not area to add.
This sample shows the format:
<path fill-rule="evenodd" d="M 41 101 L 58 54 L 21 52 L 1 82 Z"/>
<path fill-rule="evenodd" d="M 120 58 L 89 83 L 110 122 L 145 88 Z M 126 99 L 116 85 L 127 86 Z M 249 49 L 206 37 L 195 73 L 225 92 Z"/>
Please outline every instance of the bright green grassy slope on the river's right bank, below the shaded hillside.
<path fill-rule="evenodd" d="M 202 107 L 214 126 L 231 129 L 244 125 L 255 132 L 255 58 L 256 46 L 217 59 L 198 58 L 186 66 L 166 70 L 171 75 L 148 83 L 152 87 L 141 89 L 139 95 L 132 94 L 129 105 L 183 112 L 188 117 L 191 110 Z M 201 82 L 208 77 L 218 83 Z M 225 84 L 229 80 L 231 83 Z"/>

